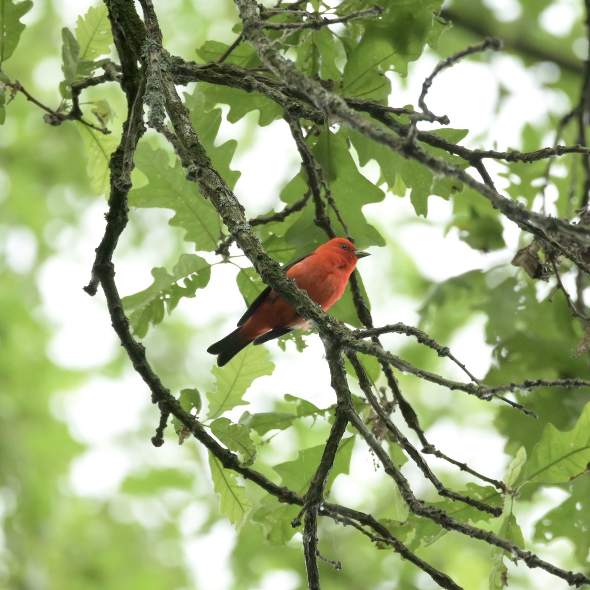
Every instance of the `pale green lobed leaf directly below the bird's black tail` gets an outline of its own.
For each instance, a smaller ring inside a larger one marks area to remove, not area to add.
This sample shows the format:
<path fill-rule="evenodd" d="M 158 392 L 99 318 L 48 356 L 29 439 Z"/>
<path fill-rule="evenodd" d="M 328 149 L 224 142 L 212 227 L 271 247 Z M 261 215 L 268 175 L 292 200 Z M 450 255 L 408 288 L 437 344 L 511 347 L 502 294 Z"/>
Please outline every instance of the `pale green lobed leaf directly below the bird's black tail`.
<path fill-rule="evenodd" d="M 207 419 L 218 418 L 238 405 L 248 405 L 242 399 L 254 379 L 271 375 L 274 363 L 266 359 L 270 353 L 261 346 L 247 346 L 223 368 L 214 366 L 211 373 L 217 378 L 215 392 L 207 392 L 209 413 Z"/>

